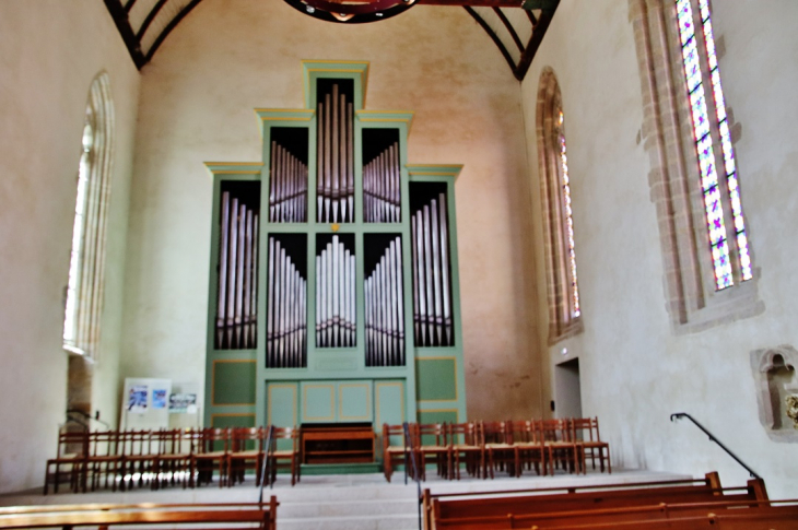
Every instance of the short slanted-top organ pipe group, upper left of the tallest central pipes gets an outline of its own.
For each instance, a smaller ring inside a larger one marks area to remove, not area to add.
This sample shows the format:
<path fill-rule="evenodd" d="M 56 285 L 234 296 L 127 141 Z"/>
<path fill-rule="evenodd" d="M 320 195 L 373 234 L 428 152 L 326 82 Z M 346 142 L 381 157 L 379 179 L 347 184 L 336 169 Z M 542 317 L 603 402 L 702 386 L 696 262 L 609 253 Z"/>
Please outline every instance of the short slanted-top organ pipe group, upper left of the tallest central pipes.
<path fill-rule="evenodd" d="M 307 221 L 307 165 L 278 142 L 271 142 L 269 221 Z"/>

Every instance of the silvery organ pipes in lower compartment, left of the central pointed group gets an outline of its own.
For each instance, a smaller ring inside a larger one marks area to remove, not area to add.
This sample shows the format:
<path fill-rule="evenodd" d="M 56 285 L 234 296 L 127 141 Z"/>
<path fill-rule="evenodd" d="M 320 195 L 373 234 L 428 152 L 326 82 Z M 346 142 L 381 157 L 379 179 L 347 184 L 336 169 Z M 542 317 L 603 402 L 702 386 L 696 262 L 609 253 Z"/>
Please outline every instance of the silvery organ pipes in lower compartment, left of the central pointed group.
<path fill-rule="evenodd" d="M 267 346 L 268 368 L 307 366 L 307 281 L 280 239 L 269 237 Z"/>

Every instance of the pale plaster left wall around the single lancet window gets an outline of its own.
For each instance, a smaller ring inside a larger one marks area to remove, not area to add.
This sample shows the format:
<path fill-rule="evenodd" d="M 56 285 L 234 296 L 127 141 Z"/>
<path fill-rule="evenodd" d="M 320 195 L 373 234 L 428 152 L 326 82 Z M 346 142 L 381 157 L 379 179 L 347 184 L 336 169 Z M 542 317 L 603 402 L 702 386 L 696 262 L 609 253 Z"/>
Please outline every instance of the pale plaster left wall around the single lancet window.
<path fill-rule="evenodd" d="M 116 155 L 94 401 L 113 421 L 139 75 L 102 2 L 0 2 L 0 493 L 42 484 L 64 421 L 62 296 L 86 98 L 102 70 Z"/>

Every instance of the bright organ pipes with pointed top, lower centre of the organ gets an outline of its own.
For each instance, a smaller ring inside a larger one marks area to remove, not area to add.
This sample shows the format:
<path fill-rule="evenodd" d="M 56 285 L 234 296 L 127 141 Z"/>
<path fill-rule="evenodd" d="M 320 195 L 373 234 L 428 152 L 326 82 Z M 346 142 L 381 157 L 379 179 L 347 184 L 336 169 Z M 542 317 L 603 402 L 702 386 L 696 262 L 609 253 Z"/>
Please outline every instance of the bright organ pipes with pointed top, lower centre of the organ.
<path fill-rule="evenodd" d="M 355 256 L 338 235 L 316 255 L 316 345 L 355 345 Z"/>

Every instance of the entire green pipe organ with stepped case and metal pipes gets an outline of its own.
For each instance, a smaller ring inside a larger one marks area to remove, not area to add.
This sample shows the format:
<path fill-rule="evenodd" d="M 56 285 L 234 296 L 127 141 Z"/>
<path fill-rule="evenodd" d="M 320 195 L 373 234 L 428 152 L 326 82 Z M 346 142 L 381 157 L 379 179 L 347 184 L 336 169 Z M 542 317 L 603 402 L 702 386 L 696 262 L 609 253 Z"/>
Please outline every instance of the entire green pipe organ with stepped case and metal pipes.
<path fill-rule="evenodd" d="M 460 166 L 407 163 L 412 113 L 363 108 L 367 63 L 303 68 L 304 109 L 256 110 L 263 163 L 207 164 L 206 424 L 465 421 Z M 254 404 L 214 396 L 220 362 L 256 372 Z"/>

